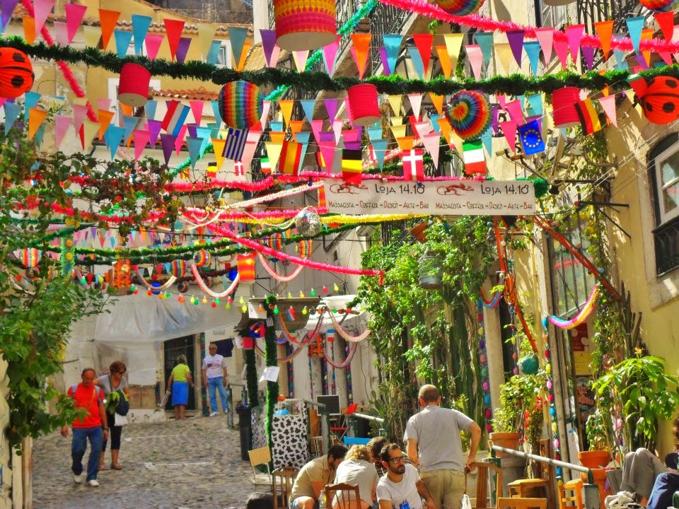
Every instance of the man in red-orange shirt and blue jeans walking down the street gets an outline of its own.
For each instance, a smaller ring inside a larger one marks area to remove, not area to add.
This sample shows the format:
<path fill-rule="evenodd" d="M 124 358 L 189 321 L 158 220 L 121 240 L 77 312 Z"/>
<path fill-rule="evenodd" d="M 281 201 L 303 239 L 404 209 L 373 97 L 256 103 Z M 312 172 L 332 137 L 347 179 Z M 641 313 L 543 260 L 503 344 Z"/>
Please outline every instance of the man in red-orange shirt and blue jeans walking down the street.
<path fill-rule="evenodd" d="M 73 443 L 71 443 L 71 470 L 73 481 L 80 484 L 83 481 L 83 456 L 87 449 L 87 440 L 90 440 L 90 457 L 87 462 L 87 477 L 85 481 L 89 486 L 99 486 L 97 474 L 99 473 L 99 455 L 103 440 L 108 440 L 108 422 L 106 421 L 106 409 L 104 406 L 104 393 L 94 385 L 95 372 L 92 368 L 83 369 L 82 382 L 70 387 L 68 394 L 76 401 L 76 409 L 86 409 L 83 419 L 76 418 L 71 424 L 73 428 Z M 69 435 L 69 427 L 62 426 L 62 436 Z"/>

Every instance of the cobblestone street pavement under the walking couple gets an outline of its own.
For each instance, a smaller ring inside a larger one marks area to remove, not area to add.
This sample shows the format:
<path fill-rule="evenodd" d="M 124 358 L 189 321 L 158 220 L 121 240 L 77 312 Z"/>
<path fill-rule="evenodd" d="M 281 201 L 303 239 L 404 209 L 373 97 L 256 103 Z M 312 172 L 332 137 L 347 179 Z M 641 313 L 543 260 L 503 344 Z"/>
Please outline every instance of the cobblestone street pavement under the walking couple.
<path fill-rule="evenodd" d="M 83 464 L 89 452 L 88 446 Z M 240 509 L 255 491 L 250 462 L 240 460 L 239 432 L 226 427 L 224 415 L 130 423 L 122 431 L 123 469 L 108 469 L 110 450 L 106 462 L 98 488 L 84 481 L 74 484 L 71 432 L 68 438 L 57 432 L 35 440 L 34 507 Z M 269 483 L 267 474 L 258 473 L 257 483 Z M 267 486 L 257 486 L 257 491 L 267 491 Z"/>

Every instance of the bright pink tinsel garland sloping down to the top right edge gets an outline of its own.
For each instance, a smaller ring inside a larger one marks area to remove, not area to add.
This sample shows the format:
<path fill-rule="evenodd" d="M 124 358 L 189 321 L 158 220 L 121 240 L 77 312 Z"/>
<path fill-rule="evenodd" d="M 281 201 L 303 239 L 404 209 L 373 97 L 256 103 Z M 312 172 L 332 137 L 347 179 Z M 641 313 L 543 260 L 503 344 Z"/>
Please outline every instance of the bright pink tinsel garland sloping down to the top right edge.
<path fill-rule="evenodd" d="M 456 23 L 470 28 L 476 28 L 483 32 L 511 32 L 513 30 L 523 30 L 523 36 L 528 39 L 535 39 L 535 27 L 526 25 L 519 25 L 511 21 L 496 21 L 491 18 L 485 18 L 478 14 L 470 14 L 469 16 L 453 16 L 446 13 L 442 8 L 434 4 L 428 4 L 426 0 L 378 0 L 382 4 L 396 7 L 402 11 L 410 11 L 421 16 L 434 18 L 448 23 Z M 566 34 L 561 30 L 554 30 L 555 41 L 567 41 Z M 601 47 L 599 37 L 596 35 L 583 35 L 580 42 L 581 46 L 587 47 Z M 622 37 L 617 39 L 613 37 L 610 41 L 610 47 L 615 49 L 622 49 L 622 51 L 632 51 L 634 46 L 629 37 Z M 642 40 L 639 42 L 639 49 L 650 49 L 654 52 L 679 52 L 679 42 L 667 42 L 666 40 L 653 39 Z"/>

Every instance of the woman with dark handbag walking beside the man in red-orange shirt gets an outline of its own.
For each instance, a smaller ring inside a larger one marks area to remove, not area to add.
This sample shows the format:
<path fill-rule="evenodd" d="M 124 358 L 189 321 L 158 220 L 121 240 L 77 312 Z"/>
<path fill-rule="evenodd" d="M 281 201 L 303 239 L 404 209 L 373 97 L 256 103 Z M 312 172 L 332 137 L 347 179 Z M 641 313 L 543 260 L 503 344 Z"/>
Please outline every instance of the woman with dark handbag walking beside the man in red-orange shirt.
<path fill-rule="evenodd" d="M 100 375 L 94 383 L 101 387 L 104 392 L 104 401 L 106 408 L 106 416 L 111 428 L 111 469 L 122 470 L 122 466 L 118 462 L 118 455 L 120 454 L 120 435 L 122 435 L 122 424 L 115 426 L 117 406 L 129 409 L 129 389 L 127 388 L 127 379 L 123 377 L 127 371 L 127 366 L 122 361 L 113 361 L 109 366 L 108 375 Z M 127 411 L 124 412 L 127 414 Z M 120 417 L 118 418 L 120 421 Z M 106 452 L 106 445 L 108 440 L 104 440 L 101 456 L 99 459 L 99 469 L 104 470 L 104 454 Z"/>

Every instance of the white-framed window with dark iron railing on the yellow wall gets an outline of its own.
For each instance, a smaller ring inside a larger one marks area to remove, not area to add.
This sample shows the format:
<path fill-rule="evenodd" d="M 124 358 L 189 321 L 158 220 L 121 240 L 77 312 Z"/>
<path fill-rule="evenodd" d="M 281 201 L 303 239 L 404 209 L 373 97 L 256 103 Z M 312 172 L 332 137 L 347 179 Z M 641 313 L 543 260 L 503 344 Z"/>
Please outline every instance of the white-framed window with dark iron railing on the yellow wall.
<path fill-rule="evenodd" d="M 649 152 L 653 189 L 656 274 L 679 267 L 679 135 L 666 136 Z"/>

